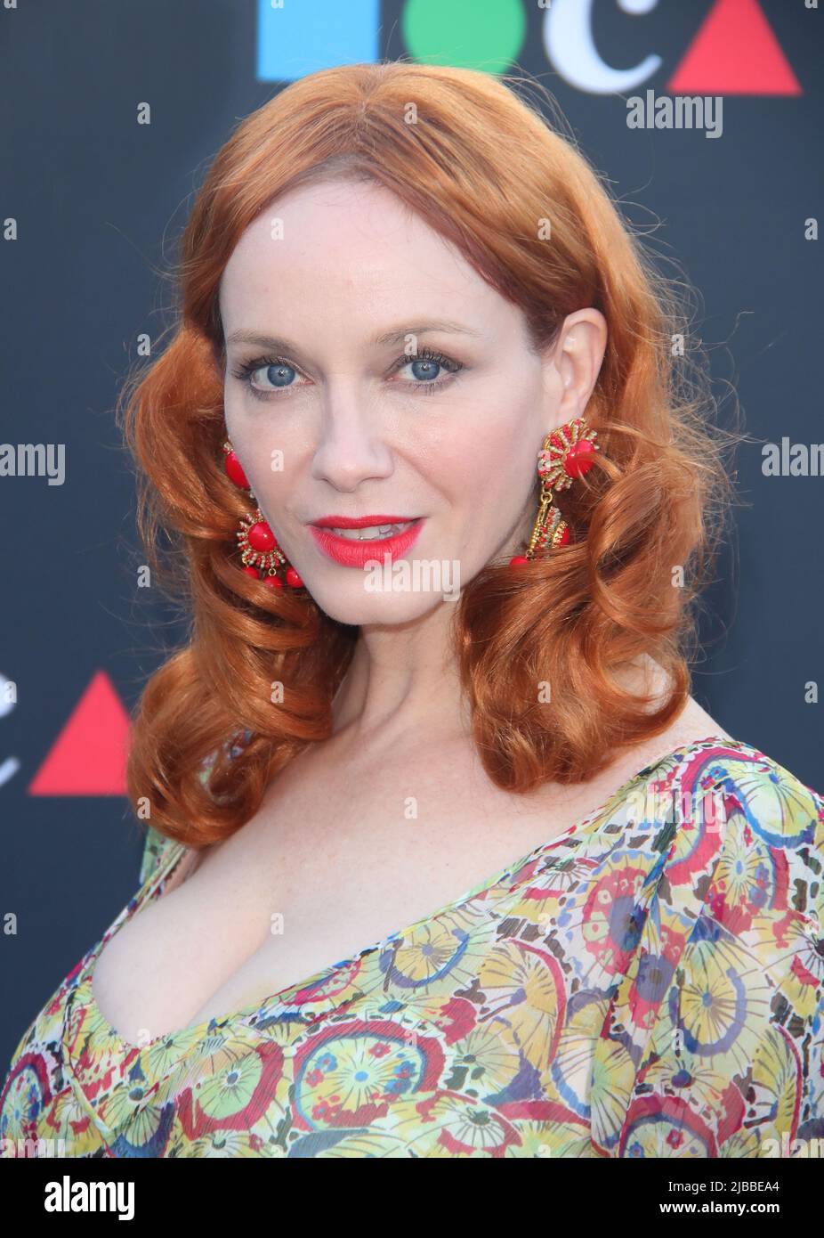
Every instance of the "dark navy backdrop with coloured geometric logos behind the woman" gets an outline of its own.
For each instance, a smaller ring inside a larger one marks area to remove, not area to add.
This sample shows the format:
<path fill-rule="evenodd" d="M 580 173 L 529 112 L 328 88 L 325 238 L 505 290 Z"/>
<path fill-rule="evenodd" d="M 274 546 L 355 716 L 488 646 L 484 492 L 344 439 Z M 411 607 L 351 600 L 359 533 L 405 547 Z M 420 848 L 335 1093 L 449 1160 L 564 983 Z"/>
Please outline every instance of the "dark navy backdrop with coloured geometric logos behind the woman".
<path fill-rule="evenodd" d="M 126 712 L 182 634 L 136 588 L 119 381 L 140 333 L 157 338 L 167 319 L 160 272 L 209 158 L 238 119 L 324 66 L 440 54 L 539 77 L 627 218 L 683 264 L 721 422 L 734 387 L 755 439 L 737 453 L 741 505 L 706 595 L 695 695 L 824 787 L 820 707 L 805 701 L 824 675 L 824 483 L 765 475 L 761 452 L 824 437 L 820 249 L 805 236 L 824 188 L 824 12 L 804 0 L 7 2 L 0 443 L 63 444 L 66 463 L 62 484 L 0 475 L 0 676 L 16 685 L 16 703 L 0 692 L 1 1073 L 137 888 Z M 647 90 L 721 97 L 721 135 L 630 129 L 626 99 Z"/>

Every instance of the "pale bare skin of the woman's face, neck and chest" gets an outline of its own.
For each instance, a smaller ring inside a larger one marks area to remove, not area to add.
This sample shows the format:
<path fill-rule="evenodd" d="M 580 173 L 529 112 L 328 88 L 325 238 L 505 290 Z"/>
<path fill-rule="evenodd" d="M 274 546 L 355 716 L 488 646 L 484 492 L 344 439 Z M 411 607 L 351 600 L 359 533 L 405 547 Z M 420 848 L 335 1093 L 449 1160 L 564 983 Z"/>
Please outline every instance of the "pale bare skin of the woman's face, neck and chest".
<path fill-rule="evenodd" d="M 187 857 L 104 948 L 97 1000 L 132 1041 L 351 957 L 562 833 L 651 758 L 721 734 L 690 699 L 667 732 L 585 785 L 502 791 L 471 739 L 454 603 L 367 592 L 363 571 L 322 553 L 307 527 L 327 514 L 424 516 L 411 555 L 457 561 L 461 586 L 509 561 L 532 529 L 543 438 L 585 412 L 598 378 L 598 311 L 570 314 L 554 345 L 532 353 L 520 308 L 393 194 L 350 182 L 304 186 L 264 212 L 228 262 L 220 310 L 229 438 L 311 594 L 360 634 L 332 737 L 281 771 L 235 834 Z M 471 332 L 418 329 L 414 343 L 443 368 L 413 365 L 403 337 L 370 343 L 433 321 Z M 236 332 L 291 347 L 272 357 L 231 343 Z M 250 363 L 262 399 L 238 378 Z M 663 691 L 661 667 L 642 661 L 627 686 Z"/>

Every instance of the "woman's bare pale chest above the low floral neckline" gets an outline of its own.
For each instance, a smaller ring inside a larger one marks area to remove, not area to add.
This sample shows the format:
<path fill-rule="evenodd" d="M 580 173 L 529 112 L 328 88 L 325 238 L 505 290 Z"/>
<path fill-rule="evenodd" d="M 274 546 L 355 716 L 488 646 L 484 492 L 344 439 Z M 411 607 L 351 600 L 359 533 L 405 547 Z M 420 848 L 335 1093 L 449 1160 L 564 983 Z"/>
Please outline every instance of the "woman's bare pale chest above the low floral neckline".
<path fill-rule="evenodd" d="M 135 1044 L 247 1008 L 440 910 L 580 820 L 600 784 L 500 791 L 471 759 L 294 761 L 95 963 Z"/>

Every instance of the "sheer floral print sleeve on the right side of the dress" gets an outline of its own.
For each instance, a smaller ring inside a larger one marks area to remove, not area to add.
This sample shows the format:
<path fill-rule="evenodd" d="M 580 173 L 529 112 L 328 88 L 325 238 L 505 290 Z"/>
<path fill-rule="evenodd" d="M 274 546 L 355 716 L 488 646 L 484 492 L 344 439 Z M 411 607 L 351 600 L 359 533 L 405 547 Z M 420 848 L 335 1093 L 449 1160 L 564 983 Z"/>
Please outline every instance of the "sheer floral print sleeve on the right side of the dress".
<path fill-rule="evenodd" d="M 676 813 L 596 1042 L 604 1156 L 824 1153 L 824 802 L 766 758 L 723 773 L 715 821 Z"/>

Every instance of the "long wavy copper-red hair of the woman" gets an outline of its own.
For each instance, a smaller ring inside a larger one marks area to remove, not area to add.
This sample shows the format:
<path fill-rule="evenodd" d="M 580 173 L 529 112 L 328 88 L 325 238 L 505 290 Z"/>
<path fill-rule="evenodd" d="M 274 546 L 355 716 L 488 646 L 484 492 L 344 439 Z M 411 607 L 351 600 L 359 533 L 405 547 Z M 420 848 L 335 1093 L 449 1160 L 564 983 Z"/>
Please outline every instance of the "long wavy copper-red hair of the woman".
<path fill-rule="evenodd" d="M 486 566 L 455 605 L 455 656 L 489 776 L 518 792 L 585 780 L 616 749 L 663 732 L 689 697 L 693 603 L 730 485 L 706 366 L 674 282 L 560 131 L 563 118 L 553 128 L 522 80 L 402 61 L 313 73 L 245 119 L 204 178 L 182 236 L 171 339 L 119 400 L 148 562 L 192 619 L 132 718 L 129 797 L 135 811 L 148 802 L 166 836 L 207 846 L 255 813 L 272 776 L 330 734 L 358 635 L 306 593 L 239 569 L 247 504 L 223 469 L 219 281 L 244 229 L 308 180 L 391 189 L 522 308 L 536 349 L 578 308 L 607 322 L 586 407 L 601 451 L 558 496 L 572 543 L 520 571 Z M 654 712 L 621 685 L 643 654 L 672 682 Z"/>

